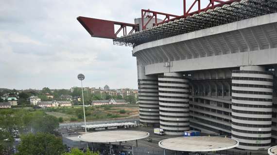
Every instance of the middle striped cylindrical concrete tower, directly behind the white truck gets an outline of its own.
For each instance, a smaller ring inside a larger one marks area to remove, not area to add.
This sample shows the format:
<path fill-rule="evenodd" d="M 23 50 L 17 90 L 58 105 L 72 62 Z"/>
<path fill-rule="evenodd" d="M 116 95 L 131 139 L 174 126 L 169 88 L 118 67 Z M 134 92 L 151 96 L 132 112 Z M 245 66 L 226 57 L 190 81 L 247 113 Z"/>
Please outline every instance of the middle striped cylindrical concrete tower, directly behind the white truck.
<path fill-rule="evenodd" d="M 169 135 L 190 129 L 189 80 L 180 73 L 158 77 L 160 128 Z"/>

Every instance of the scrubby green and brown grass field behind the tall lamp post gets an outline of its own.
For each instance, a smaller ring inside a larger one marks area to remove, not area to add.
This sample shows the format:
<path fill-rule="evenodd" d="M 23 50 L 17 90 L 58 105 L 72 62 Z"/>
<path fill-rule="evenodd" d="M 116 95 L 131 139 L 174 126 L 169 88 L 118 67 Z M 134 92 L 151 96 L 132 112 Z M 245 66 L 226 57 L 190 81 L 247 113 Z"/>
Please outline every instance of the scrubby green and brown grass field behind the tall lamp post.
<path fill-rule="evenodd" d="M 49 115 L 63 118 L 64 122 L 81 122 L 84 117 L 82 106 L 58 107 L 42 110 Z M 136 117 L 138 116 L 138 104 L 91 106 L 86 107 L 85 111 L 87 121 Z"/>

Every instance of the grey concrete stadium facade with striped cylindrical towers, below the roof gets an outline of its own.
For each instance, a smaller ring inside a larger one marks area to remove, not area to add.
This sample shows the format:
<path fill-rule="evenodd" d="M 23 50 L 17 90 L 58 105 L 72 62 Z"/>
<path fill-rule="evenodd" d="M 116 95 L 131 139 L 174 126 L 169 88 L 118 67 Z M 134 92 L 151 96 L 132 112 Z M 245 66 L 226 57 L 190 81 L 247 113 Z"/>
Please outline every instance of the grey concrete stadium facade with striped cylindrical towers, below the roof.
<path fill-rule="evenodd" d="M 229 135 L 246 150 L 276 142 L 277 13 L 143 43 L 133 55 L 142 124 Z"/>

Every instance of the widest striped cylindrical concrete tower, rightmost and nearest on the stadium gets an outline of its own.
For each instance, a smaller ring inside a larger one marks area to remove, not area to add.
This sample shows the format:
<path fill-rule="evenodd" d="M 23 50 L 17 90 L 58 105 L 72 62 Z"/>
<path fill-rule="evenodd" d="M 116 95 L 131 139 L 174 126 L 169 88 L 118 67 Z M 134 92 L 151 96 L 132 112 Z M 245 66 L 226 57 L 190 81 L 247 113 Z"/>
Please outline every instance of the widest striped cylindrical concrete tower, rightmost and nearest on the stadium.
<path fill-rule="evenodd" d="M 238 148 L 268 149 L 271 143 L 273 76 L 261 66 L 232 73 L 232 139 Z"/>

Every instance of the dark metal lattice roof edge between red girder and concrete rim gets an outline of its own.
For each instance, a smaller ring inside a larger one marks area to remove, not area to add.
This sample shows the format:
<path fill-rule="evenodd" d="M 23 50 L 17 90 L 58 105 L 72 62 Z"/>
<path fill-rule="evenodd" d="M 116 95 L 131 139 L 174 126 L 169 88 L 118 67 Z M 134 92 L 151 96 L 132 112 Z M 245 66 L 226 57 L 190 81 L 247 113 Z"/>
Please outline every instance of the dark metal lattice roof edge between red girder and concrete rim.
<path fill-rule="evenodd" d="M 203 30 L 243 19 L 277 12 L 277 0 L 241 0 L 230 5 L 208 9 L 186 18 L 159 24 L 113 39 L 114 45 L 135 47 L 143 43 Z"/>

